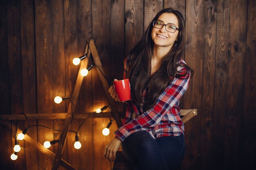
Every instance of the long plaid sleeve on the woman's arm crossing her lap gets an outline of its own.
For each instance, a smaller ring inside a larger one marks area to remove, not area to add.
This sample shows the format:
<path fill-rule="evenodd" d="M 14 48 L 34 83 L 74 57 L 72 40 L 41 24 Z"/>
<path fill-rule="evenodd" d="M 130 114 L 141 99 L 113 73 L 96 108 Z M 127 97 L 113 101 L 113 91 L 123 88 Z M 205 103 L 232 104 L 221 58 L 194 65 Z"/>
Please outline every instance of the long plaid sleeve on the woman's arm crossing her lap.
<path fill-rule="evenodd" d="M 132 119 L 128 124 L 121 126 L 115 132 L 116 137 L 124 141 L 124 139 L 133 132 L 156 126 L 165 113 L 170 110 L 185 93 L 189 86 L 189 79 L 190 74 L 173 79 L 173 82 L 159 95 L 156 104 L 136 119 Z"/>

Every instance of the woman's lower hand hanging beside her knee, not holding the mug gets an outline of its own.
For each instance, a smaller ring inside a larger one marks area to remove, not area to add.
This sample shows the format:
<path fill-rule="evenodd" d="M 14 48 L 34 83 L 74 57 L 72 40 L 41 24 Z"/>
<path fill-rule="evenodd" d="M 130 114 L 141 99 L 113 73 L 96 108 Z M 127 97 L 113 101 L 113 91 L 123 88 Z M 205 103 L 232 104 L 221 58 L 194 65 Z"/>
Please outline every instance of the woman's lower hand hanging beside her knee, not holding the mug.
<path fill-rule="evenodd" d="M 108 159 L 108 161 L 115 161 L 117 150 L 119 149 L 121 144 L 122 144 L 122 141 L 114 137 L 112 141 L 110 141 L 110 143 L 108 143 L 107 146 L 105 147 L 103 152 L 104 157 Z"/>

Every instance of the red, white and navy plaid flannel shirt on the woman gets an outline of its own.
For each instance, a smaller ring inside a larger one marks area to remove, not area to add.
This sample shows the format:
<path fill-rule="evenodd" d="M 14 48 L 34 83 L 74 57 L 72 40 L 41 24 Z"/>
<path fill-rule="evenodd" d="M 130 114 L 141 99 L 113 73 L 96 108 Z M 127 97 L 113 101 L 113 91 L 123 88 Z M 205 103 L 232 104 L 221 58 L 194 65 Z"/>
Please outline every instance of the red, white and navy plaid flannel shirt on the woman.
<path fill-rule="evenodd" d="M 126 78 L 129 58 L 124 61 L 124 78 Z M 180 60 L 184 62 L 184 60 Z M 186 69 L 178 67 L 178 70 Z M 184 124 L 180 118 L 179 100 L 189 86 L 190 74 L 182 78 L 174 78 L 164 92 L 157 98 L 156 104 L 145 110 L 143 105 L 130 100 L 123 125 L 115 135 L 124 141 L 133 132 L 146 130 L 153 138 L 163 136 L 179 136 L 184 133 Z M 144 91 L 146 94 L 147 88 Z"/>

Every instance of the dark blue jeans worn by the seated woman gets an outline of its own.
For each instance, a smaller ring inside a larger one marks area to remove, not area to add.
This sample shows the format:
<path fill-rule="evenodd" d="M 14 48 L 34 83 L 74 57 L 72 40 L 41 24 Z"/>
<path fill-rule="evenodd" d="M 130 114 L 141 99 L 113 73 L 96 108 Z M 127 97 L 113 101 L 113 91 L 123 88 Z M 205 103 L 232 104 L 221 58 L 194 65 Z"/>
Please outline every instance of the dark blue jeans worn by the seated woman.
<path fill-rule="evenodd" d="M 135 170 L 174 170 L 185 155 L 184 135 L 154 139 L 145 130 L 134 132 L 122 143 L 122 151 L 137 163 Z"/>

